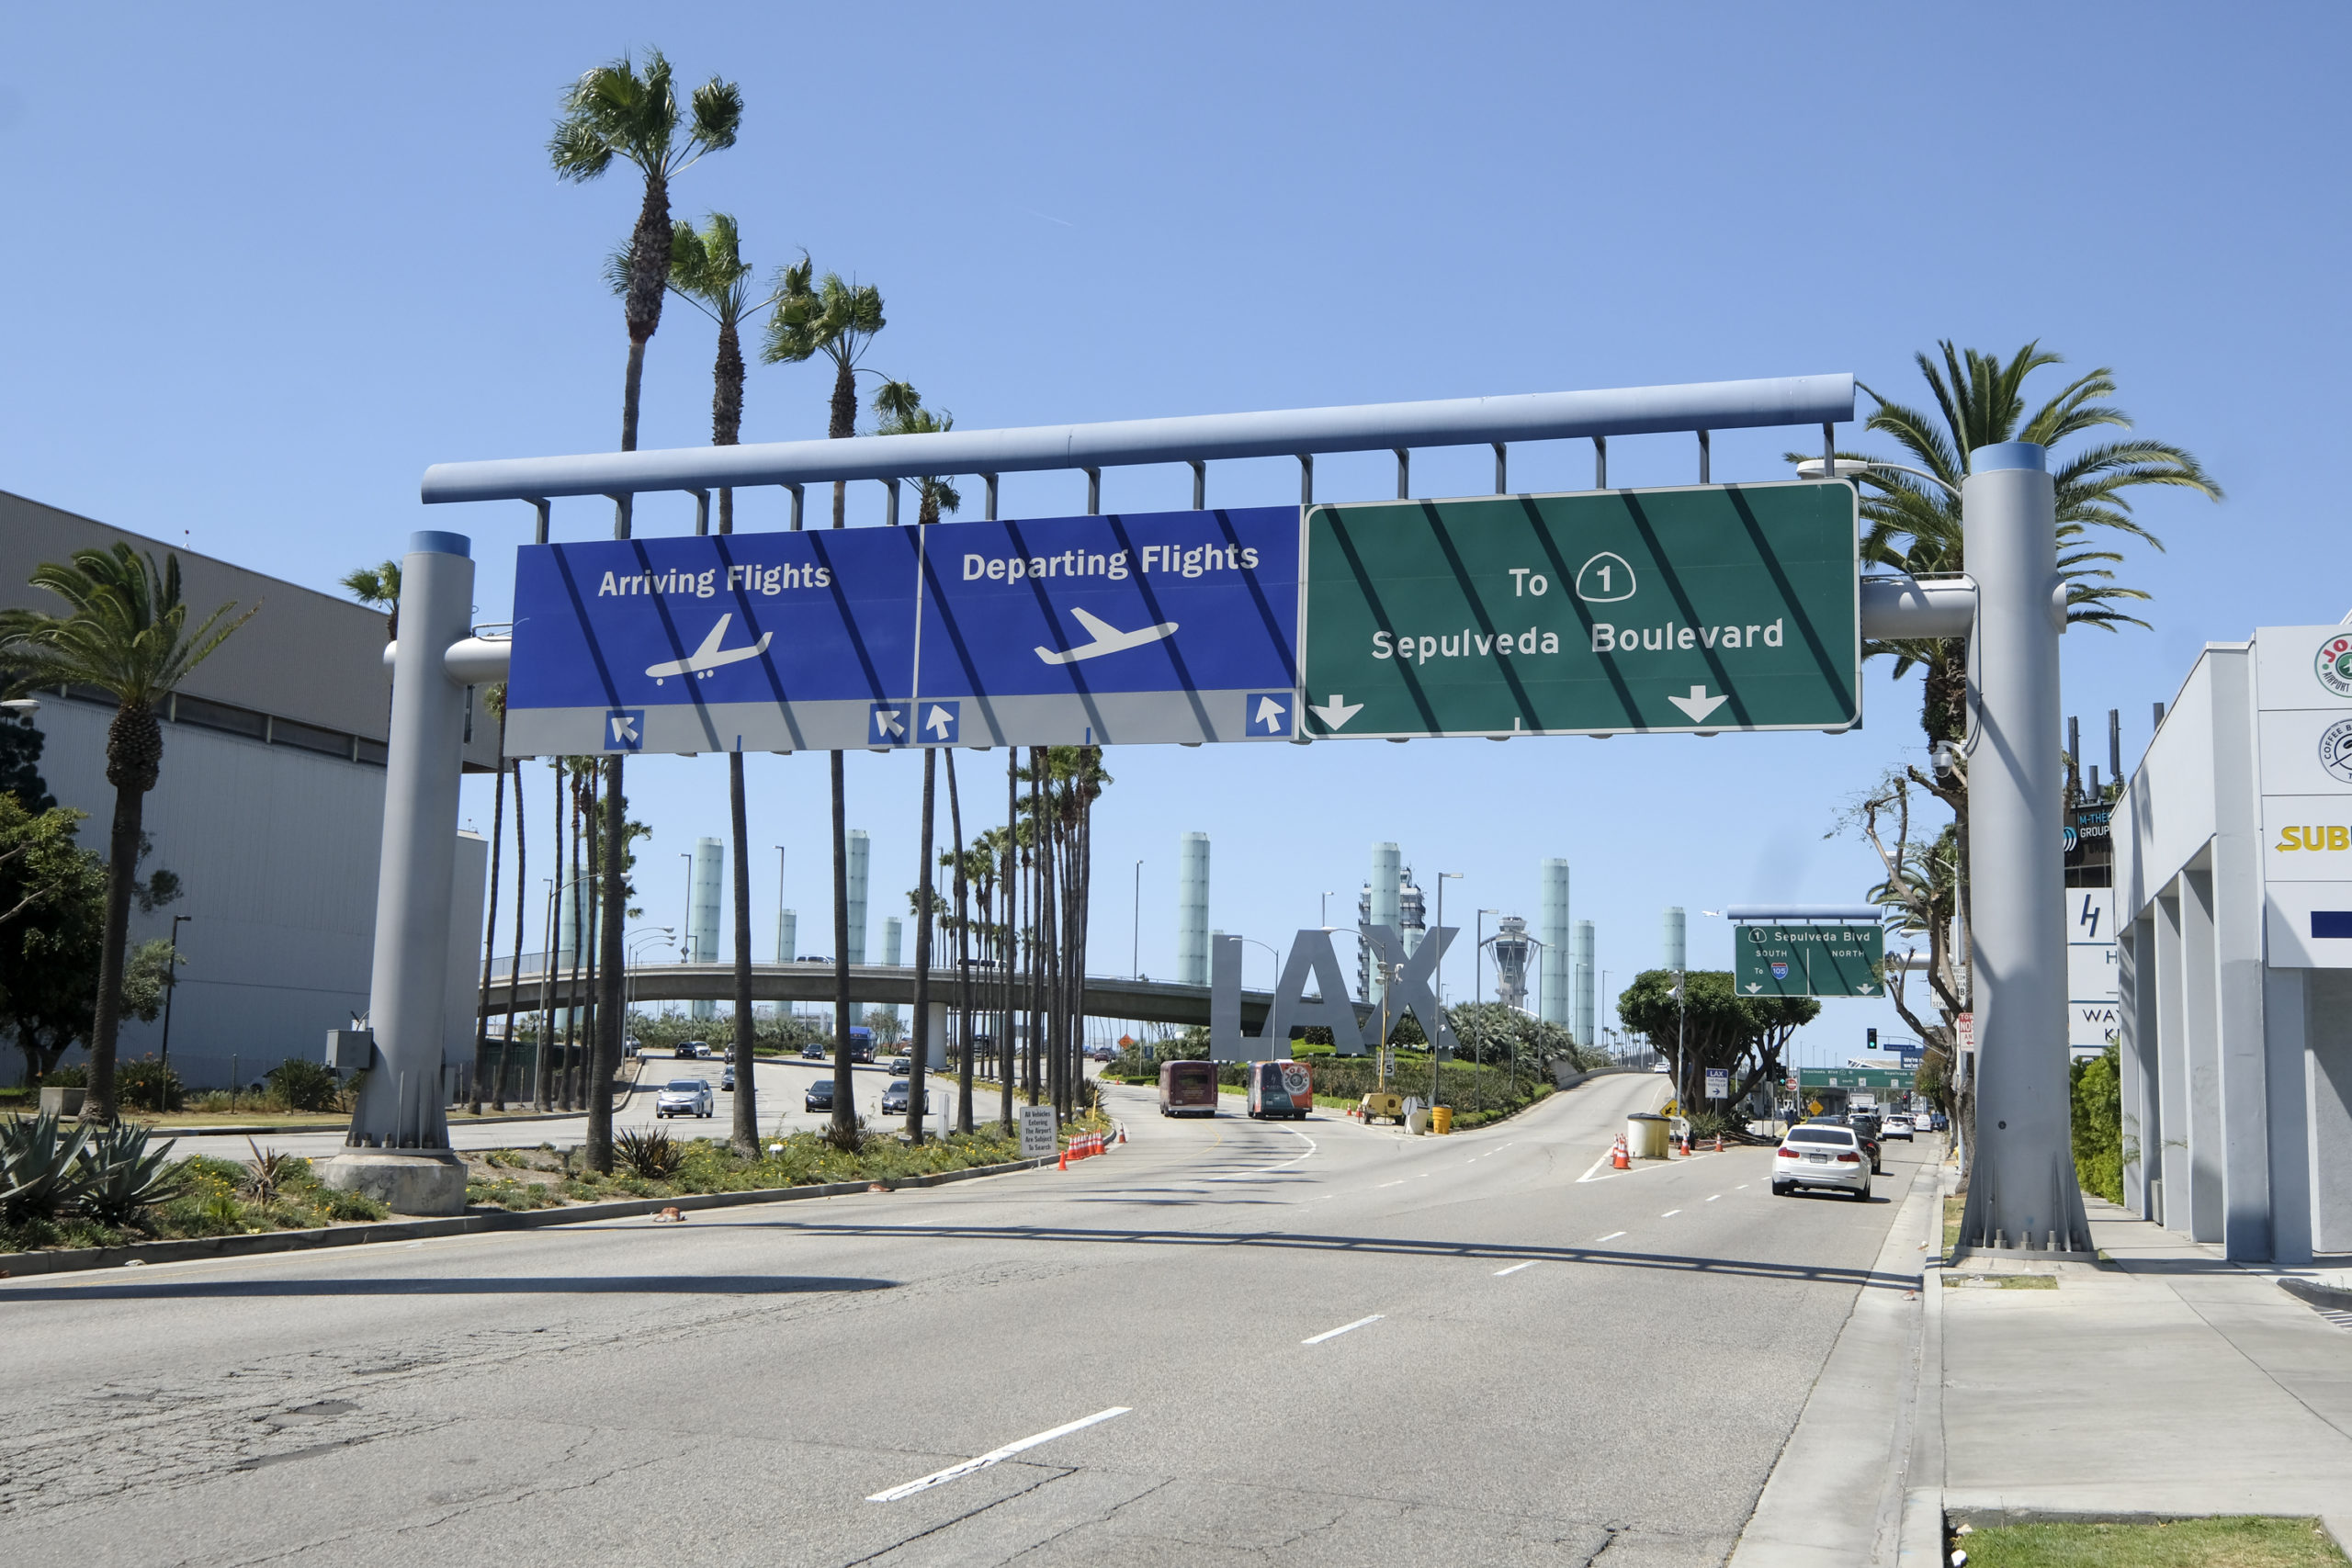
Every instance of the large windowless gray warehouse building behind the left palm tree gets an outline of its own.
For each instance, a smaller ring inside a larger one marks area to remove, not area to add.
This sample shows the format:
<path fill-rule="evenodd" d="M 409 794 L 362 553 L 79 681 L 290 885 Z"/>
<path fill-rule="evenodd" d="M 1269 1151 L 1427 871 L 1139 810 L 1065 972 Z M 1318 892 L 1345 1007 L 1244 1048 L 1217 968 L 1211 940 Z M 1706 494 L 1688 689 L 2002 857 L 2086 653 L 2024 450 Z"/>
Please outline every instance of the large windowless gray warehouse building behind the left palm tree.
<path fill-rule="evenodd" d="M 0 607 L 61 611 L 61 599 L 26 583 L 33 569 L 115 541 L 158 559 L 179 555 L 191 618 L 223 602 L 259 604 L 162 715 L 162 778 L 146 799 L 153 851 L 141 870 L 167 867 L 183 891 L 155 912 L 132 907 L 132 945 L 169 936 L 172 917 L 186 917 L 172 1065 L 191 1086 L 228 1084 L 230 1072 L 252 1081 L 289 1056 L 315 1060 L 327 1030 L 367 1011 L 390 719 L 383 616 L 5 491 Z M 353 564 L 369 555 L 381 550 L 355 545 Z M 40 773 L 61 806 L 89 816 L 80 842 L 103 853 L 113 701 L 78 689 L 35 696 Z M 496 743 L 494 722 L 475 724 L 466 771 L 496 769 Z M 459 835 L 449 1060 L 473 1051 L 487 865 L 489 844 Z M 125 1020 L 125 1060 L 160 1048 L 160 1020 Z M 21 1072 L 21 1058 L 9 1072 Z"/>

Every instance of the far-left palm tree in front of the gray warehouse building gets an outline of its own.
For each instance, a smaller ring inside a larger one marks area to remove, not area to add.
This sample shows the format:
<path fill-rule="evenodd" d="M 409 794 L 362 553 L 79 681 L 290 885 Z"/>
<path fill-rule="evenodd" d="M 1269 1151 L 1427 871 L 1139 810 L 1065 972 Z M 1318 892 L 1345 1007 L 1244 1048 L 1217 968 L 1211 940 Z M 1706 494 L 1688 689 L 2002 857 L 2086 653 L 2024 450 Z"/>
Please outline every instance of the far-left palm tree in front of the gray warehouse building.
<path fill-rule="evenodd" d="M 115 788 L 115 823 L 106 846 L 106 933 L 99 952 L 99 999 L 89 1027 L 89 1093 L 85 1121 L 115 1119 L 115 1032 L 122 1023 L 122 945 L 129 938 L 132 882 L 146 792 L 162 771 L 162 724 L 155 708 L 261 607 L 230 618 L 223 604 L 188 630 L 179 590 L 179 557 L 158 569 L 153 555 L 127 543 L 75 550 L 68 562 L 42 562 L 31 578 L 68 604 L 68 614 L 0 611 L 0 665 L 14 691 L 33 686 L 96 686 L 118 703 L 106 729 L 106 783 Z"/>

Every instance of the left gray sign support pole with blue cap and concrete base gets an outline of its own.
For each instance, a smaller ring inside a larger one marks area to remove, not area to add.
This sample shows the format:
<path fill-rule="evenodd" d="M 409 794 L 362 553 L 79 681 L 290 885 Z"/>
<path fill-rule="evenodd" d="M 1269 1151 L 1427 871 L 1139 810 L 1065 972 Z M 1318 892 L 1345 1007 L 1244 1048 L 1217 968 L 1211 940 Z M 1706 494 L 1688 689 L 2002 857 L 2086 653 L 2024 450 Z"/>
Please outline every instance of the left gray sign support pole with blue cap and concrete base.
<path fill-rule="evenodd" d="M 449 1027 L 449 900 L 456 886 L 459 769 L 466 689 L 445 656 L 473 623 L 473 559 L 463 534 L 409 536 L 400 559 L 400 642 L 383 759 L 383 851 L 367 1016 L 374 1070 L 360 1091 L 329 1187 L 362 1190 L 400 1213 L 463 1213 L 466 1166 L 442 1117 Z M 381 1154 L 379 1150 L 409 1150 Z"/>

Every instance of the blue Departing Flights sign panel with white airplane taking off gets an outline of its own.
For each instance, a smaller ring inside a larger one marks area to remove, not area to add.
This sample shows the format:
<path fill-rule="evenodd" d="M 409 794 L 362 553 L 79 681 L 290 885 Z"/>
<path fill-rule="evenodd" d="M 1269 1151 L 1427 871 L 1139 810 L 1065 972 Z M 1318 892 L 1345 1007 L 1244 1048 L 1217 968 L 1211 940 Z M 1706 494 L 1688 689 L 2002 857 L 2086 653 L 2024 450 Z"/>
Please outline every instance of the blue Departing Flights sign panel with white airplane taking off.
<path fill-rule="evenodd" d="M 1296 668 L 1294 505 L 927 529 L 915 689 L 969 745 L 1289 741 Z"/>

